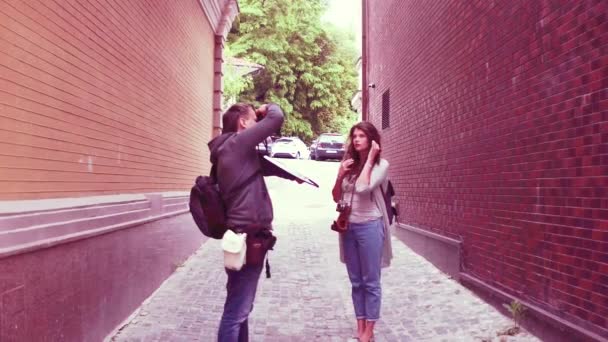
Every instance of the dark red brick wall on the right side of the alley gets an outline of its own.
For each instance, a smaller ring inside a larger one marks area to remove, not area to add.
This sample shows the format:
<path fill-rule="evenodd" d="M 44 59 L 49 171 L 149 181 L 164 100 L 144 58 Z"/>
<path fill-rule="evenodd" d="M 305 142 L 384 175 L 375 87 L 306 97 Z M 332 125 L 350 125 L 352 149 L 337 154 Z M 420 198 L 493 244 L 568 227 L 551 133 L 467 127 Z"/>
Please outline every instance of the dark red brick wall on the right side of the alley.
<path fill-rule="evenodd" d="M 368 4 L 401 220 L 461 239 L 465 272 L 606 329 L 608 3 Z"/>

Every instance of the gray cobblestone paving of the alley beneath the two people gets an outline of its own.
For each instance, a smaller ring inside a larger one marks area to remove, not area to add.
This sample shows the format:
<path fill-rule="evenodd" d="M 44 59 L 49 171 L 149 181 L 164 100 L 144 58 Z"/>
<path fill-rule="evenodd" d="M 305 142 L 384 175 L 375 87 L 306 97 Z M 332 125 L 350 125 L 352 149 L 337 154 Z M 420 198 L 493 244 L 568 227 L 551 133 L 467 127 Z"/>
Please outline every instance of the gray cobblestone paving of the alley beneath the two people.
<path fill-rule="evenodd" d="M 297 208 L 275 203 L 275 212 L 290 217 L 275 220 L 272 278 L 262 273 L 250 340 L 347 341 L 355 321 L 337 236 L 329 229 L 333 213 L 314 203 Z M 525 333 L 499 339 L 508 318 L 396 239 L 393 248 L 393 264 L 382 274 L 376 341 L 537 341 Z M 215 341 L 225 280 L 219 242 L 209 240 L 112 340 Z"/>

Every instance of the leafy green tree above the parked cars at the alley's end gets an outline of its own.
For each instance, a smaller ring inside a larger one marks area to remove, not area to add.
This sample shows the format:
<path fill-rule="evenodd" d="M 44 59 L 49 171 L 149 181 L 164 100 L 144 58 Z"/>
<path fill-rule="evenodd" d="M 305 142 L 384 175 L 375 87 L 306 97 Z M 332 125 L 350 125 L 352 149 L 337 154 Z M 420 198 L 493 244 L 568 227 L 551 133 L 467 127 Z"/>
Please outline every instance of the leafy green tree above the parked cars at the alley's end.
<path fill-rule="evenodd" d="M 241 0 L 228 45 L 234 56 L 264 66 L 243 101 L 276 102 L 286 113 L 284 135 L 310 141 L 345 132 L 355 113 L 355 37 L 322 25 L 323 0 Z"/>

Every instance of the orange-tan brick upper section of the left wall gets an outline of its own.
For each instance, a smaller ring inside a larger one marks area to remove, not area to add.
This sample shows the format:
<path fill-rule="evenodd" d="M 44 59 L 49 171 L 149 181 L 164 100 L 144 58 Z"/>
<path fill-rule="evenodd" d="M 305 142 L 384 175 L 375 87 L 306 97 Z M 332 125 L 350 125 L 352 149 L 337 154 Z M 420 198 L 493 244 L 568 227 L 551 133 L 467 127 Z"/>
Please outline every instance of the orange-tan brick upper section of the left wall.
<path fill-rule="evenodd" d="M 187 189 L 213 47 L 198 0 L 0 0 L 0 199 Z"/>

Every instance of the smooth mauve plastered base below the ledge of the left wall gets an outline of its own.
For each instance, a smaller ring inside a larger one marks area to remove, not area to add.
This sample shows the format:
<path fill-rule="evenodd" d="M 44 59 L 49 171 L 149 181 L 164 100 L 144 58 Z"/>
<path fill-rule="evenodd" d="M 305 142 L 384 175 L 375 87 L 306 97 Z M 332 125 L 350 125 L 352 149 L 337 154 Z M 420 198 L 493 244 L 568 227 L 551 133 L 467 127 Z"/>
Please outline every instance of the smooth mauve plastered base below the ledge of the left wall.
<path fill-rule="evenodd" d="M 102 341 L 200 247 L 190 215 L 0 260 L 0 341 Z"/>

